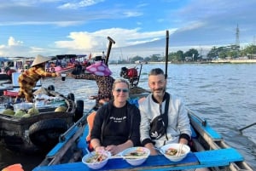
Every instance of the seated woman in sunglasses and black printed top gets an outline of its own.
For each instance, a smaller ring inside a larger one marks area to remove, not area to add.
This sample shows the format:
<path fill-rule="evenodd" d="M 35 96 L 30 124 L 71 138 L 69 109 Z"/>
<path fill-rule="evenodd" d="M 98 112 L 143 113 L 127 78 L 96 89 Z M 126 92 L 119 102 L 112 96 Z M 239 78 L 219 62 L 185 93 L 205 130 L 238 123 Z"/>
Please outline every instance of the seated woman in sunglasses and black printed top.
<path fill-rule="evenodd" d="M 113 100 L 96 112 L 90 131 L 90 145 L 95 151 L 110 151 L 112 155 L 126 148 L 140 145 L 140 113 L 136 105 L 131 105 L 129 83 L 117 79 L 113 83 Z"/>

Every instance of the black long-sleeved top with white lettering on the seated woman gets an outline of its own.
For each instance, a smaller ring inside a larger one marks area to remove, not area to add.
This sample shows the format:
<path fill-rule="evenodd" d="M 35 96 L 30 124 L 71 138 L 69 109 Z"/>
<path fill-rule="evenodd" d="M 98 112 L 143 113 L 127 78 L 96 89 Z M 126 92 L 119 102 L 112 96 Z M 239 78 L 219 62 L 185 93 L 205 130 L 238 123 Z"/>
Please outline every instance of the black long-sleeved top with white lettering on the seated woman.
<path fill-rule="evenodd" d="M 111 100 L 97 111 L 90 138 L 100 140 L 103 146 L 120 145 L 127 140 L 135 146 L 140 145 L 140 122 L 136 105 L 127 102 L 124 107 L 116 108 Z"/>

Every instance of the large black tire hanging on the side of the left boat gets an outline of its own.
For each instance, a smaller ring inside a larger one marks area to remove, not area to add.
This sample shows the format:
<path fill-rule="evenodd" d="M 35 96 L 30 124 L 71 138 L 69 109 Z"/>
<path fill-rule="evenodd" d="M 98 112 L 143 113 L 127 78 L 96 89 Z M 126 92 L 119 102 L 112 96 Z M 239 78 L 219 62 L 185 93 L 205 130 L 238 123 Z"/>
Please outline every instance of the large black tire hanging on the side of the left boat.
<path fill-rule="evenodd" d="M 59 142 L 59 136 L 67 128 L 64 119 L 47 119 L 33 123 L 28 129 L 28 135 L 34 145 L 49 150 Z"/>

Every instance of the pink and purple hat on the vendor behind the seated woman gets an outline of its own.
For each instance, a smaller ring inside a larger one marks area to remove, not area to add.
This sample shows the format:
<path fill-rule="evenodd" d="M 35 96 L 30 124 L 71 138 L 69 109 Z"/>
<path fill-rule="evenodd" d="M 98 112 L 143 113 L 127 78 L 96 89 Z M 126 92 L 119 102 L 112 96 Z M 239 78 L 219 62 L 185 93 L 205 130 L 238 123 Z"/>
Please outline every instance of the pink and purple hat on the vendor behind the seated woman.
<path fill-rule="evenodd" d="M 95 74 L 96 76 L 110 76 L 112 74 L 112 71 L 110 71 L 108 66 L 106 66 L 102 61 L 88 66 L 86 71 L 91 74 Z"/>

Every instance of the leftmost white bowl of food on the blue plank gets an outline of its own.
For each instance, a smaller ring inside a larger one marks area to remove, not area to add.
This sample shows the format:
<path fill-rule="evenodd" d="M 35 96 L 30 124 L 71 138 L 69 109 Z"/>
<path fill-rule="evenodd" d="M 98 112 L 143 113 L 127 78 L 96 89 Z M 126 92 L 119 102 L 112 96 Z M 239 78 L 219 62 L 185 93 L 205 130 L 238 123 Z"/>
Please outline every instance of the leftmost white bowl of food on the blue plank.
<path fill-rule="evenodd" d="M 103 159 L 101 162 L 95 162 L 95 161 L 88 161 L 91 157 L 94 156 L 99 156 L 99 155 L 103 155 L 104 157 L 106 157 L 105 159 Z M 83 158 L 82 158 L 82 162 L 84 162 L 84 164 L 86 164 L 89 168 L 92 169 L 99 169 L 99 168 L 103 168 L 107 162 L 108 159 L 111 157 L 111 153 L 109 151 L 93 151 L 90 152 L 89 154 L 86 154 Z"/>

